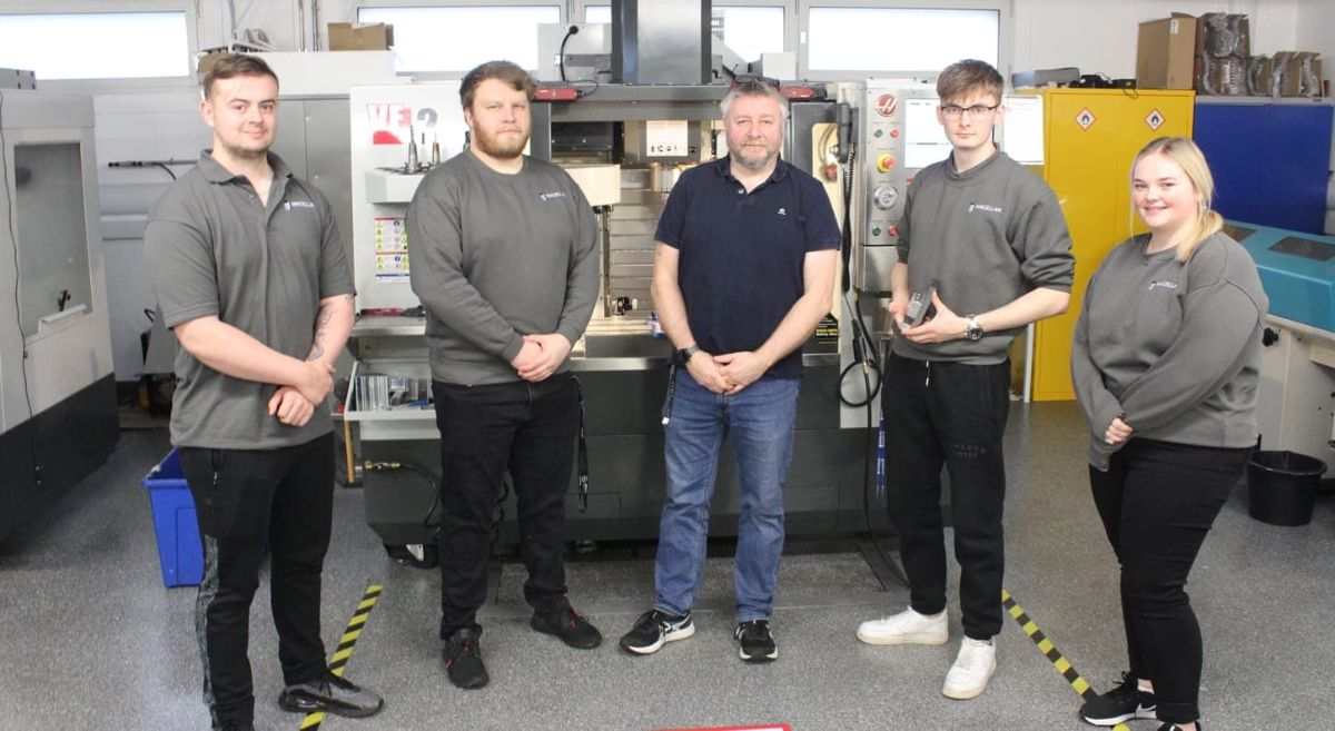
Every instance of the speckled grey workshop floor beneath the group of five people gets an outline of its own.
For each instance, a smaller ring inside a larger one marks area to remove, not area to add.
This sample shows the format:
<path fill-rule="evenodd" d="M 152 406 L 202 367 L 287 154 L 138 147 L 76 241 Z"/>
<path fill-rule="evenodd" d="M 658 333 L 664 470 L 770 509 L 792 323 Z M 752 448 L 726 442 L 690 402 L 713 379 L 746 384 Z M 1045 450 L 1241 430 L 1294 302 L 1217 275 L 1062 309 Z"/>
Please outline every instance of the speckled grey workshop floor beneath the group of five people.
<path fill-rule="evenodd" d="M 1007 587 L 1099 690 L 1124 668 L 1112 551 L 1088 495 L 1084 426 L 1073 404 L 1016 406 L 1008 432 Z M 0 544 L 0 730 L 207 728 L 192 640 L 194 588 L 166 590 L 139 480 L 168 446 L 163 432 L 123 432 L 108 463 L 45 515 Z M 523 570 L 506 564 L 483 611 L 491 686 L 458 691 L 435 639 L 439 578 L 390 560 L 362 522 L 362 496 L 338 490 L 326 562 L 328 647 L 368 584 L 384 587 L 348 676 L 386 696 L 371 719 L 328 718 L 327 730 L 627 730 L 789 723 L 798 731 L 1091 728 L 1079 699 L 1015 623 L 999 638 L 1000 668 L 980 698 L 940 694 L 955 658 L 959 607 L 945 647 L 874 648 L 858 622 L 898 610 L 852 550 L 804 552 L 793 542 L 773 624 L 778 662 L 752 667 L 732 642 L 730 560 L 709 560 L 696 638 L 649 658 L 615 648 L 651 591 L 651 548 L 638 558 L 581 558 L 571 598 L 605 632 L 594 651 L 566 648 L 527 626 Z M 1310 526 L 1247 516 L 1239 488 L 1196 563 L 1189 592 L 1206 638 L 1202 691 L 1211 731 L 1328 728 L 1335 702 L 1335 503 Z M 955 578 L 952 578 L 955 580 Z M 266 584 L 252 612 L 256 720 L 295 730 L 276 707 L 280 672 Z M 1136 728 L 1153 730 L 1152 722 Z"/>

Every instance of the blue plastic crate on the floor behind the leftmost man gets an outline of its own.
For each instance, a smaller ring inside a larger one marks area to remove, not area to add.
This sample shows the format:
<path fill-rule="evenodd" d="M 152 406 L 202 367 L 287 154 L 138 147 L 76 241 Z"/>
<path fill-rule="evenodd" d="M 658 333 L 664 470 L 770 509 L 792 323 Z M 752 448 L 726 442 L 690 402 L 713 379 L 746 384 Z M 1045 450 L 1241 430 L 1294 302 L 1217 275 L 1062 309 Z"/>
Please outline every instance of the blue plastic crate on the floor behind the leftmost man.
<path fill-rule="evenodd" d="M 163 570 L 163 584 L 199 586 L 204 575 L 204 548 L 199 540 L 195 502 L 190 496 L 176 450 L 148 472 L 144 487 L 154 508 L 154 532 L 158 534 L 158 562 Z"/>

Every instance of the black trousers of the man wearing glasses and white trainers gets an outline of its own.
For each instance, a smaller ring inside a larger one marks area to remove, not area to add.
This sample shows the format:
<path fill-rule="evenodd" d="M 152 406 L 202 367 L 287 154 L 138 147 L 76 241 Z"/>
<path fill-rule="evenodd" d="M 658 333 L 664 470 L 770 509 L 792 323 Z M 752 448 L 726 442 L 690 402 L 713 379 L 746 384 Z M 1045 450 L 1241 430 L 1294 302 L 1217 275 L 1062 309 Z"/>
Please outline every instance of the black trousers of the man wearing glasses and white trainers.
<path fill-rule="evenodd" d="M 955 558 L 961 568 L 964 634 L 992 638 L 1001 631 L 1001 436 L 1011 410 L 1011 364 L 967 366 L 890 355 L 882 388 L 886 508 L 900 531 L 909 604 L 921 614 L 945 610 L 945 466 Z"/>

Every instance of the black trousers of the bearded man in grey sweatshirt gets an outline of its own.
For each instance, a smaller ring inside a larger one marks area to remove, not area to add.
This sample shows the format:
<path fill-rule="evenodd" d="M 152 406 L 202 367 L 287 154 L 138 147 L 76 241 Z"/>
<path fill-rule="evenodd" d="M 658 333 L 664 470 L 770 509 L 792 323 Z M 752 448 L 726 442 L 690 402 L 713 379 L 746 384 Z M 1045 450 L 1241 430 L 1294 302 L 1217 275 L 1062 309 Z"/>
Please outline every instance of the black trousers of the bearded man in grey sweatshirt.
<path fill-rule="evenodd" d="M 519 546 L 538 612 L 566 604 L 565 495 L 574 468 L 574 376 L 541 383 L 431 384 L 441 430 L 441 639 L 478 628 L 487 595 L 491 520 L 506 471 L 519 506 Z"/>

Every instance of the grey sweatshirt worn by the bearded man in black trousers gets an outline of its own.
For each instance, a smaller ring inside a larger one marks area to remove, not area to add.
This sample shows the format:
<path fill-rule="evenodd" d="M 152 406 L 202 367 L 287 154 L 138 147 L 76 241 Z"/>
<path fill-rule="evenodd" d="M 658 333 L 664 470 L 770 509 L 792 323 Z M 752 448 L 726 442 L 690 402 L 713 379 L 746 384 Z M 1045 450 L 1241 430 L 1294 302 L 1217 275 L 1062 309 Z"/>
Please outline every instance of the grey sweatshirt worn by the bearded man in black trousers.
<path fill-rule="evenodd" d="M 598 225 L 557 165 L 525 157 L 519 173 L 503 175 L 469 151 L 455 155 L 418 185 L 407 233 L 433 379 L 519 380 L 510 360 L 523 335 L 557 332 L 574 344 L 589 325 Z"/>

